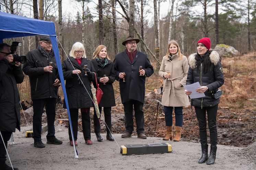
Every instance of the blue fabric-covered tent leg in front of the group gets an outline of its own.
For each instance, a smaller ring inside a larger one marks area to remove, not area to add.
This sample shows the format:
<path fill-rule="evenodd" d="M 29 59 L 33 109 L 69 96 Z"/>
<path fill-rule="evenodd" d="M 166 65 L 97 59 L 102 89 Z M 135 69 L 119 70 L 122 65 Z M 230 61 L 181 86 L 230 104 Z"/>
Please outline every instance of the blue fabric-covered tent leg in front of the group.
<path fill-rule="evenodd" d="M 56 60 L 58 71 L 59 71 L 60 82 L 61 82 L 61 87 L 62 87 L 62 91 L 63 91 L 63 95 L 64 95 L 64 100 L 65 100 L 66 106 L 67 106 L 68 118 L 69 118 L 71 135 L 72 135 L 72 140 L 73 140 L 73 147 L 74 147 L 75 158 L 78 158 L 78 154 L 77 154 L 77 151 L 76 151 L 75 145 L 74 145 L 74 134 L 73 134 L 73 128 L 72 128 L 71 117 L 70 117 L 70 112 L 69 112 L 67 92 L 66 92 L 66 88 L 65 88 L 65 82 L 64 82 L 64 77 L 63 77 L 63 72 L 62 72 L 62 67 L 61 67 L 58 43 L 57 43 L 57 40 L 56 40 L 56 36 L 50 36 L 50 38 L 51 38 L 51 44 L 53 45 L 53 51 L 54 51 L 54 55 L 55 55 L 55 60 Z"/>

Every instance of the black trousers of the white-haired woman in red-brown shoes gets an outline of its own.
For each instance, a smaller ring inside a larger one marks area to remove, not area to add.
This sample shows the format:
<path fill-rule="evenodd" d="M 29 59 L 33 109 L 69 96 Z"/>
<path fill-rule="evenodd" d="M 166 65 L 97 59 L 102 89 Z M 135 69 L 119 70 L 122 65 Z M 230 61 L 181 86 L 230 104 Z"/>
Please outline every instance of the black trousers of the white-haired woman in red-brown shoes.
<path fill-rule="evenodd" d="M 72 123 L 74 140 L 77 140 L 78 133 L 78 109 L 69 109 L 70 118 Z M 81 112 L 82 115 L 82 128 L 83 128 L 83 136 L 84 140 L 91 139 L 91 120 L 90 120 L 90 110 L 89 112 Z M 72 141 L 70 124 L 68 124 L 68 134 L 69 140 Z"/>

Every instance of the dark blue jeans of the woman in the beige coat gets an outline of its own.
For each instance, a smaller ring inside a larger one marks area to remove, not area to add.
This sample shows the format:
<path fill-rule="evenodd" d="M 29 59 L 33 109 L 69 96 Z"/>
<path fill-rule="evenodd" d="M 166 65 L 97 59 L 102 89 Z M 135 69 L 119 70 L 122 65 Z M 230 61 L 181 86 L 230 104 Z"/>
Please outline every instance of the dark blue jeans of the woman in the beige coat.
<path fill-rule="evenodd" d="M 175 126 L 182 127 L 183 123 L 183 107 L 174 107 L 175 113 Z M 173 125 L 173 107 L 171 106 L 164 106 L 164 114 L 165 114 L 165 125 L 172 126 Z"/>

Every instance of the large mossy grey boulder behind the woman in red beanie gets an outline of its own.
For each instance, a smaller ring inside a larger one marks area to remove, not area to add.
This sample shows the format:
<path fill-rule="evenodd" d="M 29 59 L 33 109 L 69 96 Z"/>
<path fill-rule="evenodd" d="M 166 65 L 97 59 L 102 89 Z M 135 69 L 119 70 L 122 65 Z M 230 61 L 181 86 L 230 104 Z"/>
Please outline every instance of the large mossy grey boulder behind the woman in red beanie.
<path fill-rule="evenodd" d="M 217 51 L 221 57 L 232 57 L 239 55 L 239 52 L 234 47 L 225 44 L 217 44 L 213 50 Z"/>

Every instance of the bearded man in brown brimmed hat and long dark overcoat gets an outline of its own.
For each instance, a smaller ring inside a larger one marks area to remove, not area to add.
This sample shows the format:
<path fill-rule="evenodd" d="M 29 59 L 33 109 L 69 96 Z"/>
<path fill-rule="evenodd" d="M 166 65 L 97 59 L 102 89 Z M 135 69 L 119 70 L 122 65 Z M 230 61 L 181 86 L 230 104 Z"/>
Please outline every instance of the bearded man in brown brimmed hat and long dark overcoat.
<path fill-rule="evenodd" d="M 125 113 L 125 133 L 122 138 L 130 138 L 133 132 L 133 107 L 138 138 L 147 139 L 144 134 L 143 103 L 146 77 L 154 73 L 147 54 L 137 50 L 140 40 L 129 36 L 122 43 L 126 49 L 115 55 L 116 80 L 119 81 L 121 101 Z M 142 67 L 142 68 L 140 68 Z"/>

